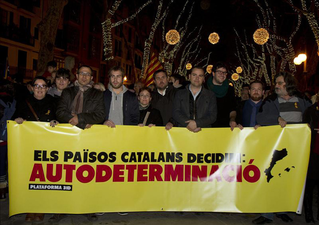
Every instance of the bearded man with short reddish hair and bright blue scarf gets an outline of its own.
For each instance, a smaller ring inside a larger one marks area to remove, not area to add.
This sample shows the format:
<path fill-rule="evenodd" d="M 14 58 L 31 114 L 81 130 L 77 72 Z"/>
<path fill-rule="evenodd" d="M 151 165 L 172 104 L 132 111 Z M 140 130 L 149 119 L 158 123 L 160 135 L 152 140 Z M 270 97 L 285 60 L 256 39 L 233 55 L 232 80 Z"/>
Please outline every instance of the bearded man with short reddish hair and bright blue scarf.
<path fill-rule="evenodd" d="M 256 122 L 256 115 L 262 104 L 264 90 L 264 83 L 260 80 L 254 80 L 249 85 L 248 100 L 242 101 L 237 109 L 237 127 L 260 127 Z"/>

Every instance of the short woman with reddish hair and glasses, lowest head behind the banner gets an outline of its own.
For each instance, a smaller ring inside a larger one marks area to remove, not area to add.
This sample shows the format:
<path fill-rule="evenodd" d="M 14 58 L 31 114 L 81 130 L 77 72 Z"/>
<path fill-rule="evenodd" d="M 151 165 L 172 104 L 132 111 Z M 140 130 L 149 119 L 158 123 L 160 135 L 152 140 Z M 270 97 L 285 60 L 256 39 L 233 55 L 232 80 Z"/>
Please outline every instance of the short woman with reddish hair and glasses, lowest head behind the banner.
<path fill-rule="evenodd" d="M 140 89 L 139 95 L 140 104 L 140 121 L 139 126 L 163 126 L 163 120 L 160 115 L 160 111 L 154 109 L 150 104 L 152 99 L 152 91 L 148 87 L 142 87 Z"/>

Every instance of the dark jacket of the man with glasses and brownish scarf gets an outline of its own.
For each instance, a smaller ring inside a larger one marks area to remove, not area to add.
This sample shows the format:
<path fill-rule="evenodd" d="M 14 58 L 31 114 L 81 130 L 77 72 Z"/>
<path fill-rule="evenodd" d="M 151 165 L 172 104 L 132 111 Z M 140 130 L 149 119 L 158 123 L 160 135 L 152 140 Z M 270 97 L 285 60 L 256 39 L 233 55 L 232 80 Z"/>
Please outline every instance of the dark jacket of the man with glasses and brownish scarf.
<path fill-rule="evenodd" d="M 68 123 L 72 116 L 73 100 L 79 91 L 78 86 L 67 87 L 62 91 L 58 103 L 56 116 L 59 122 Z M 87 124 L 100 124 L 105 118 L 103 92 L 90 88 L 83 94 L 82 113 L 77 114 L 79 124 L 77 127 L 84 129 Z"/>

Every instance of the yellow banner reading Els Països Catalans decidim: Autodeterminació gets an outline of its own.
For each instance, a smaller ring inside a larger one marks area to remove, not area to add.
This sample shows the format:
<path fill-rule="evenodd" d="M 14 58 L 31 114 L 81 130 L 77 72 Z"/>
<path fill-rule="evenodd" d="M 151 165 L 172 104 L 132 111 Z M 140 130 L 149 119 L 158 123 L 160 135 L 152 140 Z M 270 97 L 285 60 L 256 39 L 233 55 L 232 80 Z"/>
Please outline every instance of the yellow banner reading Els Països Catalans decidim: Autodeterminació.
<path fill-rule="evenodd" d="M 9 215 L 192 211 L 296 212 L 305 124 L 185 128 L 8 122 Z"/>

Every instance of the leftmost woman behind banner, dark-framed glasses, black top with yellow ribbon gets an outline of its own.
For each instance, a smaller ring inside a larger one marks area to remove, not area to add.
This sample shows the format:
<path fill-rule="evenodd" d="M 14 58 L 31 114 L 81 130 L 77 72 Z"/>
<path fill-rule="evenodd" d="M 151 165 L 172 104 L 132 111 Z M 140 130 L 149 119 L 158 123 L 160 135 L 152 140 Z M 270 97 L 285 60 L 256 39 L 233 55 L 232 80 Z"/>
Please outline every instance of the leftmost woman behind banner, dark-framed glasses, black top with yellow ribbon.
<path fill-rule="evenodd" d="M 26 100 L 16 104 L 16 111 L 13 118 L 17 124 L 23 121 L 50 122 L 50 126 L 54 127 L 58 124 L 55 118 L 55 101 L 51 95 L 47 95 L 47 81 L 43 76 L 37 76 L 32 81 L 33 95 Z M 28 213 L 26 214 L 26 222 L 43 221 L 44 214 Z"/>

